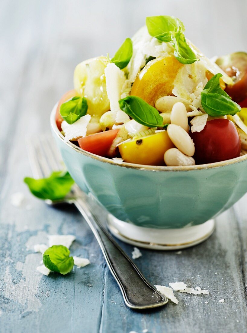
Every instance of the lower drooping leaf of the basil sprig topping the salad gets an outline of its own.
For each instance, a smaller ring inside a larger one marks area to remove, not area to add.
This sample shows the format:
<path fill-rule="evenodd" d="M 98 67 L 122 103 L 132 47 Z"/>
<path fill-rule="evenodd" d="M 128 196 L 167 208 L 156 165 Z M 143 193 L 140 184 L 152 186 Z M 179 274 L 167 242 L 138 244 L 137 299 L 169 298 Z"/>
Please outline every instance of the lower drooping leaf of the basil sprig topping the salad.
<path fill-rule="evenodd" d="M 197 59 L 195 53 L 186 42 L 183 33 L 174 33 L 172 36 L 172 45 L 174 47 L 174 56 L 182 64 L 193 64 Z"/>

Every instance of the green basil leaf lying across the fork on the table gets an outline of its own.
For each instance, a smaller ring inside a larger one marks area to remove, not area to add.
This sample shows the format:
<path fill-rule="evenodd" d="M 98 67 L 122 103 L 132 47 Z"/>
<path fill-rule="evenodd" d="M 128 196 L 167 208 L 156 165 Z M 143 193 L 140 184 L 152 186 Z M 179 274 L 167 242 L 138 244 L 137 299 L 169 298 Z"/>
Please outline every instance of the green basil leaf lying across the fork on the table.
<path fill-rule="evenodd" d="M 30 191 L 40 199 L 59 200 L 70 191 L 74 180 L 67 171 L 52 172 L 48 178 L 24 178 Z"/>

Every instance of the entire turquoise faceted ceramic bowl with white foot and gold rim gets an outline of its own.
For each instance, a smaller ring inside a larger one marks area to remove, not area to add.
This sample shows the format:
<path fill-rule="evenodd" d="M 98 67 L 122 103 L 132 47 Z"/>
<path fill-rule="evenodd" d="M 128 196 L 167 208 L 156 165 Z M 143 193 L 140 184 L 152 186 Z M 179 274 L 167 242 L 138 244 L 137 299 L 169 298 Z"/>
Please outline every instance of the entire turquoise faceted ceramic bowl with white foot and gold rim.
<path fill-rule="evenodd" d="M 247 192 L 247 155 L 197 166 L 119 165 L 65 143 L 55 111 L 52 134 L 69 173 L 110 213 L 110 230 L 131 244 L 157 249 L 197 244 L 212 233 L 212 219 Z"/>

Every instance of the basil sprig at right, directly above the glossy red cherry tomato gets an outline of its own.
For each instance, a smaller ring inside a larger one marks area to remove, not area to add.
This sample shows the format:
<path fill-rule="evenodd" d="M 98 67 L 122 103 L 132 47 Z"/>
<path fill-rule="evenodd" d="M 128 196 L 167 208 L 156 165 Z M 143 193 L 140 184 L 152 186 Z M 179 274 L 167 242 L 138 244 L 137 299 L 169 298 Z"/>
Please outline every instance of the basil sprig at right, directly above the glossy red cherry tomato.
<path fill-rule="evenodd" d="M 222 74 L 215 74 L 206 84 L 201 93 L 202 107 L 212 117 L 225 115 L 234 116 L 241 107 L 233 102 L 230 96 L 220 88 L 219 79 Z"/>

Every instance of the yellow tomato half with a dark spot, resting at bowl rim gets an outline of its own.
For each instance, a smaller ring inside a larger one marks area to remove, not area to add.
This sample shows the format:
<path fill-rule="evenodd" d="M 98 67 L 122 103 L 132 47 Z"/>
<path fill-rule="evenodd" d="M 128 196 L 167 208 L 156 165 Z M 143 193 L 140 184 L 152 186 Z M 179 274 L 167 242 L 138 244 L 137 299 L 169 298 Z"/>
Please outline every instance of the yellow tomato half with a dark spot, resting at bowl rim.
<path fill-rule="evenodd" d="M 162 131 L 119 145 L 119 152 L 124 162 L 144 165 L 164 165 L 164 154 L 174 148 L 167 131 Z"/>

